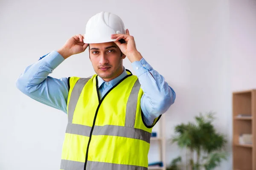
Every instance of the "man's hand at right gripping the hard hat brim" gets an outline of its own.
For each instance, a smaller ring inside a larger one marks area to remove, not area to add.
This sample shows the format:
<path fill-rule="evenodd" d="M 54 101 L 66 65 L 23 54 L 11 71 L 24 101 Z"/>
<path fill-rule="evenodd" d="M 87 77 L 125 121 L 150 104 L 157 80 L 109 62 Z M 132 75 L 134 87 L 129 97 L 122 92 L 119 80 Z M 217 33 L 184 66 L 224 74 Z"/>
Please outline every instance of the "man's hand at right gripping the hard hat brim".
<path fill-rule="evenodd" d="M 128 29 L 126 29 L 126 34 L 112 34 L 111 38 L 116 39 L 114 42 L 131 62 L 140 61 L 140 59 L 142 59 L 140 52 L 137 51 L 134 37 L 130 35 Z M 125 43 L 119 42 L 121 39 L 125 40 Z"/>

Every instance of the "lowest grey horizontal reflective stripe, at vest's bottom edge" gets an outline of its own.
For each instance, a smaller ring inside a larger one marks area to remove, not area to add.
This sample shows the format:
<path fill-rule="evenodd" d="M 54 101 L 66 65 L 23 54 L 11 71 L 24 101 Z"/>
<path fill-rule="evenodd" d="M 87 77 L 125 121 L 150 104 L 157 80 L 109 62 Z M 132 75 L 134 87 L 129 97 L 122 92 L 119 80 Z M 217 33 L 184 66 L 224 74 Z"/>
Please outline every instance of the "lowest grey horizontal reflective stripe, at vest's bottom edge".
<path fill-rule="evenodd" d="M 84 162 L 61 160 L 61 169 L 65 170 L 82 170 Z M 125 165 L 125 164 L 111 164 L 106 162 L 87 161 L 86 169 L 88 170 L 148 170 L 146 167 Z"/>

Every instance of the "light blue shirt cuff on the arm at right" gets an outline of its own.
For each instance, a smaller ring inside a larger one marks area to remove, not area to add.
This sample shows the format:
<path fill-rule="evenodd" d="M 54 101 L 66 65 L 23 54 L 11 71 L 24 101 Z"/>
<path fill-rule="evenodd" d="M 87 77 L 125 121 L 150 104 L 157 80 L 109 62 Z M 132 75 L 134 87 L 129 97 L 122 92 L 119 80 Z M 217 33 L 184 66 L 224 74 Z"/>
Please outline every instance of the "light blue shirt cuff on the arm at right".
<path fill-rule="evenodd" d="M 144 58 L 140 59 L 140 61 L 132 62 L 131 65 L 137 77 L 152 69 L 151 65 L 149 65 Z"/>

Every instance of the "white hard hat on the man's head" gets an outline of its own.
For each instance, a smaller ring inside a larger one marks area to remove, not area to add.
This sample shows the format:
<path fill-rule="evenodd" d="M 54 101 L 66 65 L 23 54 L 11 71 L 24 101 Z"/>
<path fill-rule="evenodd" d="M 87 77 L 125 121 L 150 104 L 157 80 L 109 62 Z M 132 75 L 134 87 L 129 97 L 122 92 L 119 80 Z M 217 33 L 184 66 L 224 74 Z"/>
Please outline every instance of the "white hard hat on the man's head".
<path fill-rule="evenodd" d="M 84 43 L 113 42 L 111 34 L 125 34 L 122 19 L 116 14 L 100 12 L 88 20 L 85 28 Z"/>

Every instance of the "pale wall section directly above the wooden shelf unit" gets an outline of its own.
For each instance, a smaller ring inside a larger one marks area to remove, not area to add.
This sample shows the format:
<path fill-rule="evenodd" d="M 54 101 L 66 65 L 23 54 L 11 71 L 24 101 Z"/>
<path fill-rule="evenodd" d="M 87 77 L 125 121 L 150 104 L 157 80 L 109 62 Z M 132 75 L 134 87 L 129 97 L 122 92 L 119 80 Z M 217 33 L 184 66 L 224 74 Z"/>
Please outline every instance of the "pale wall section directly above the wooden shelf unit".
<path fill-rule="evenodd" d="M 256 88 L 256 0 L 230 1 L 232 90 Z"/>

